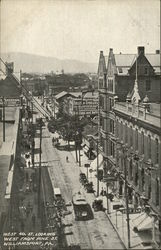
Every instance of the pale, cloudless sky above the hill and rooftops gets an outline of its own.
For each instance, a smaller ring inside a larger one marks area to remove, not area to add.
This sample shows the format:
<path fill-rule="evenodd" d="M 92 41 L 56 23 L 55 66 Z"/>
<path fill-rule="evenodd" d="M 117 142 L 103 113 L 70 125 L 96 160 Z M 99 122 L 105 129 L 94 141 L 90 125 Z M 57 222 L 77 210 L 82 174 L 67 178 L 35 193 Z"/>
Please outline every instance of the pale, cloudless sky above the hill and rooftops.
<path fill-rule="evenodd" d="M 1 0 L 1 52 L 98 62 L 160 48 L 159 0 Z"/>

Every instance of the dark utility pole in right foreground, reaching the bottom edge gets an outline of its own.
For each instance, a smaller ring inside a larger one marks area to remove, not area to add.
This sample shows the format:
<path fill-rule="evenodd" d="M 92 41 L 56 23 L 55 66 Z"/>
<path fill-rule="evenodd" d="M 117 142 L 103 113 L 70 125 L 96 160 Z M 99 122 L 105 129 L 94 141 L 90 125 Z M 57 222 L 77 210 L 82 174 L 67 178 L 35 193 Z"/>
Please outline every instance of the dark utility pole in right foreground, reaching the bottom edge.
<path fill-rule="evenodd" d="M 129 218 L 129 200 L 128 200 L 128 189 L 127 189 L 127 152 L 126 149 L 123 149 L 123 157 L 124 157 L 124 171 L 125 171 L 125 199 L 126 199 L 126 216 L 127 216 L 127 236 L 128 236 L 128 249 L 130 248 L 130 218 Z"/>

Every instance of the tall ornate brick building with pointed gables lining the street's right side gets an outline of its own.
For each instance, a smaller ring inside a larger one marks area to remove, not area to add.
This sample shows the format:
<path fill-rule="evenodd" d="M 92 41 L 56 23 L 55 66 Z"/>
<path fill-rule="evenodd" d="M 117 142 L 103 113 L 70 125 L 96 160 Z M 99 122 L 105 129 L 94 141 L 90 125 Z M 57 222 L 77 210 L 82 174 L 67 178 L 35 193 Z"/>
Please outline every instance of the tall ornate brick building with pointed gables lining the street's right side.
<path fill-rule="evenodd" d="M 109 55 L 100 52 L 99 151 L 104 175 L 117 176 L 113 190 L 124 194 L 127 165 L 129 202 L 145 204 L 159 216 L 160 170 L 160 52 Z"/>

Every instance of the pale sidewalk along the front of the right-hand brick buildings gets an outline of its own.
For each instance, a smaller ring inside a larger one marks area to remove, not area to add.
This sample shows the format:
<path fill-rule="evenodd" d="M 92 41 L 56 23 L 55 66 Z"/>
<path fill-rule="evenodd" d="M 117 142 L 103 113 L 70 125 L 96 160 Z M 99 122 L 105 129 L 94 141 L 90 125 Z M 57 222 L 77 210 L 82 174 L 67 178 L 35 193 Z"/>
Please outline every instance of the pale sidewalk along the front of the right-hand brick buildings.
<path fill-rule="evenodd" d="M 75 159 L 75 151 L 72 151 L 71 154 L 73 155 Z M 81 150 L 81 167 L 80 171 L 85 173 L 87 176 L 87 168 L 84 167 L 84 164 L 86 163 L 91 163 L 90 160 L 88 160 L 88 157 L 84 154 L 83 150 Z M 79 165 L 79 164 L 78 164 Z M 95 190 L 94 195 L 97 195 L 97 178 L 96 178 L 96 170 L 93 172 L 90 172 L 88 170 L 88 180 L 89 182 L 93 182 L 93 187 Z M 106 183 L 104 182 L 99 182 L 99 193 L 101 190 L 106 190 Z M 99 195 L 99 198 L 103 200 L 103 206 L 106 209 L 106 215 L 108 216 L 113 228 L 117 232 L 119 238 L 121 241 L 124 243 L 125 247 L 128 249 L 128 237 L 127 237 L 127 222 L 126 222 L 126 213 L 121 213 L 120 211 L 118 212 L 113 212 L 110 214 L 107 214 L 107 198 L 106 196 Z M 133 224 L 132 224 L 132 219 L 138 216 L 138 214 L 130 214 L 130 245 L 131 249 L 144 249 L 142 245 L 142 240 L 138 236 L 137 233 L 133 231 Z"/>

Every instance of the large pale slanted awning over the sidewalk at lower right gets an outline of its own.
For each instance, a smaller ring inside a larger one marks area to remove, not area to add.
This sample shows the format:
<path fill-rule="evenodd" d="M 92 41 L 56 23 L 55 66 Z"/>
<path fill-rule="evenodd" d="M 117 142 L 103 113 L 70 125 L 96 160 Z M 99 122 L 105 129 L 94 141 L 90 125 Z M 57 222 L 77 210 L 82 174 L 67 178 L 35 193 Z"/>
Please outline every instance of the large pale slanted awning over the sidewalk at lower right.
<path fill-rule="evenodd" d="M 150 230 L 153 227 L 153 219 L 145 213 L 140 214 L 137 218 L 133 219 L 134 229 L 141 232 Z"/>

